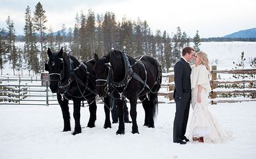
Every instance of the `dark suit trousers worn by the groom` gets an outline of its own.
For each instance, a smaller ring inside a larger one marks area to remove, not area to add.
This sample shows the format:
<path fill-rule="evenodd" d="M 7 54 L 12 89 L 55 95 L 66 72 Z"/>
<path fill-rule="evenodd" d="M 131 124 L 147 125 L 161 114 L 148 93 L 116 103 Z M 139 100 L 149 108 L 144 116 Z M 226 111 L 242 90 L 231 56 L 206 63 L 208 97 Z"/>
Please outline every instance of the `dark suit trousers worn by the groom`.
<path fill-rule="evenodd" d="M 191 90 L 184 92 L 182 98 L 175 98 L 176 112 L 173 122 L 173 142 L 182 140 L 188 124 L 189 107 L 191 104 Z"/>

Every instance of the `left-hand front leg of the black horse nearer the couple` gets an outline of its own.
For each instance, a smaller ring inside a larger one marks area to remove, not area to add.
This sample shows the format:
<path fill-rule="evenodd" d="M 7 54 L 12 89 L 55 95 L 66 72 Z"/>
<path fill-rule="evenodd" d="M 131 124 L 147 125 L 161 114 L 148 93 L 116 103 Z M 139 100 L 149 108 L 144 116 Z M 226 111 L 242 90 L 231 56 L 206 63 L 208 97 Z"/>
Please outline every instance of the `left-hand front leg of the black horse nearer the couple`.
<path fill-rule="evenodd" d="M 116 131 L 116 134 L 124 134 L 124 113 L 123 113 L 123 104 L 124 100 L 116 100 L 115 101 L 118 109 L 118 118 L 119 118 L 119 127 Z"/>

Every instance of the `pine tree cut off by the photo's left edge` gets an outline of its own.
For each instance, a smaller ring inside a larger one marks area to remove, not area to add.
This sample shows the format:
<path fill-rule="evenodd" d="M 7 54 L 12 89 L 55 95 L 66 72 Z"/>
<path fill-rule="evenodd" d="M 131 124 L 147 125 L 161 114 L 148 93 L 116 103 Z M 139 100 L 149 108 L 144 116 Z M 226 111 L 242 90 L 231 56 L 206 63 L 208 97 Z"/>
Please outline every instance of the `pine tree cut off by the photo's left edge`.
<path fill-rule="evenodd" d="M 4 28 L 2 28 L 1 32 L 6 32 Z M 0 34 L 0 68 L 1 75 L 3 75 L 3 68 L 6 61 L 6 41 L 4 35 Z"/>

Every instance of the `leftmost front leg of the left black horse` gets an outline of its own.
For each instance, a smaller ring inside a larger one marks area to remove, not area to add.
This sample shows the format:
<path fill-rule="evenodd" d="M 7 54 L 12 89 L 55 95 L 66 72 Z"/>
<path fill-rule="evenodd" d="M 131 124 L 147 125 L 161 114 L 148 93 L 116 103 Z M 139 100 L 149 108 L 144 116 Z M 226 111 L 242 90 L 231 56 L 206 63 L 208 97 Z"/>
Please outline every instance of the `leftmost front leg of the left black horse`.
<path fill-rule="evenodd" d="M 61 100 L 61 95 L 57 93 L 57 100 L 60 104 L 62 115 L 63 115 L 63 121 L 64 121 L 64 128 L 63 131 L 71 131 L 70 127 L 70 111 L 68 110 L 68 100 L 64 99 Z"/>

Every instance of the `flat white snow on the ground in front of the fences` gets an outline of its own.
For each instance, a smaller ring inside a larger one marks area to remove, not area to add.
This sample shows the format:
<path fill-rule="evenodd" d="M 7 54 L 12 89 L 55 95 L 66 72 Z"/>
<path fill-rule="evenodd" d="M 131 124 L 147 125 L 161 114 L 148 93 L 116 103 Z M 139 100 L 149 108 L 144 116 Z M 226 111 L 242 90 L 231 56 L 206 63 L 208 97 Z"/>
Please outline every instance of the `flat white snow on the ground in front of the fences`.
<path fill-rule="evenodd" d="M 143 127 L 144 111 L 137 105 L 140 134 L 116 135 L 118 124 L 104 129 L 103 105 L 98 104 L 95 128 L 87 128 L 88 107 L 81 108 L 82 133 L 62 132 L 63 119 L 59 106 L 0 107 L 0 158 L 255 158 L 256 102 L 209 105 L 222 127 L 233 132 L 226 143 L 172 143 L 175 104 L 159 104 L 155 128 Z M 129 104 L 128 104 L 129 107 Z M 73 108 L 70 107 L 73 114 Z M 190 112 L 192 115 L 192 110 Z M 190 120 L 191 118 L 189 118 Z M 189 128 L 189 124 L 188 124 Z M 186 134 L 188 135 L 188 134 Z"/>

